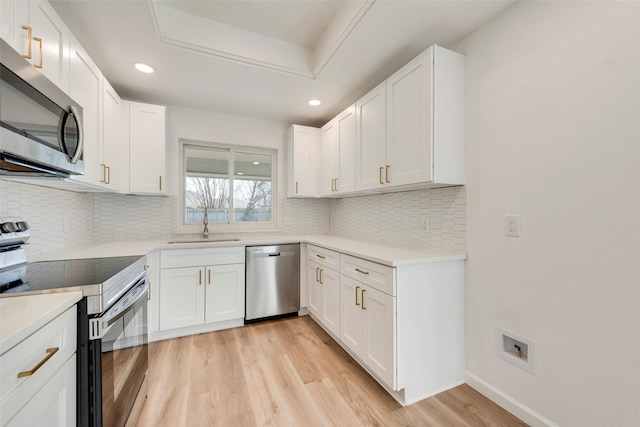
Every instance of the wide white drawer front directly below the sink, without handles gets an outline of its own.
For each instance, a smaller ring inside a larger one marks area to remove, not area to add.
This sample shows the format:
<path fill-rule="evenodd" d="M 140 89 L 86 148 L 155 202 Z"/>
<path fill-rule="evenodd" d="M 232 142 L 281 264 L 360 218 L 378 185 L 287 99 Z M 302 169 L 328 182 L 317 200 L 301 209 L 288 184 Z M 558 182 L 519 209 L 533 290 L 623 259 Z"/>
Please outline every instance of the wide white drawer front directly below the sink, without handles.
<path fill-rule="evenodd" d="M 160 254 L 160 268 L 198 267 L 244 263 L 244 246 L 230 248 L 167 249 Z"/>

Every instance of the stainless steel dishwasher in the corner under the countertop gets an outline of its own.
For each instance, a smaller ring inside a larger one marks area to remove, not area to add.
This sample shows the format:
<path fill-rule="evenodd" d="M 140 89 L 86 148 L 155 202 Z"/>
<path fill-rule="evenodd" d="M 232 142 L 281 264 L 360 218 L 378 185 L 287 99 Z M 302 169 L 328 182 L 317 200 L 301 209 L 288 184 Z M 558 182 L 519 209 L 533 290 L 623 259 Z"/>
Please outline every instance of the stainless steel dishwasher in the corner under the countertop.
<path fill-rule="evenodd" d="M 300 310 L 300 244 L 247 246 L 245 322 Z"/>

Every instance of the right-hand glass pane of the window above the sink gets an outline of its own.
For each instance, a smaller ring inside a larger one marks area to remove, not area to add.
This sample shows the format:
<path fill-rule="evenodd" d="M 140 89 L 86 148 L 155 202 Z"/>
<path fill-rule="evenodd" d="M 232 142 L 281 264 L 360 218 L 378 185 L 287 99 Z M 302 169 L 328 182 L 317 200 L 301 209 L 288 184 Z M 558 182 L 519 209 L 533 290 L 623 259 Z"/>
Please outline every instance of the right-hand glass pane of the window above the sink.
<path fill-rule="evenodd" d="M 235 152 L 234 222 L 271 222 L 271 155 Z"/>

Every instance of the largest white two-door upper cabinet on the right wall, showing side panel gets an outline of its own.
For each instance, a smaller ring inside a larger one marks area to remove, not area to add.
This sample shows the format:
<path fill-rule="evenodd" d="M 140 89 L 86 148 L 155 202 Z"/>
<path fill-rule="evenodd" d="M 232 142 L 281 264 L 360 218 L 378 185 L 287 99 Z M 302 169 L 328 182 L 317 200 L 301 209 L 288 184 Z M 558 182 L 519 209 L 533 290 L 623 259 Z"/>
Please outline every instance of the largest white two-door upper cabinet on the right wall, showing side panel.
<path fill-rule="evenodd" d="M 356 102 L 357 190 L 464 184 L 464 57 L 432 46 Z"/>

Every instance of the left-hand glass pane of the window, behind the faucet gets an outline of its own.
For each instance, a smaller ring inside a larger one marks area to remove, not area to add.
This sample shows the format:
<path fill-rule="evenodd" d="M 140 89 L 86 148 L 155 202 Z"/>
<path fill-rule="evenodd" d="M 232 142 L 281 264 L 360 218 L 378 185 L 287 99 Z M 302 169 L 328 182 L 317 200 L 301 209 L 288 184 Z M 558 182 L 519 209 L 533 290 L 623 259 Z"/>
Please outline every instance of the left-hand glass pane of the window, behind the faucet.
<path fill-rule="evenodd" d="M 185 223 L 229 222 L 229 150 L 185 145 Z"/>

